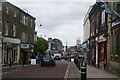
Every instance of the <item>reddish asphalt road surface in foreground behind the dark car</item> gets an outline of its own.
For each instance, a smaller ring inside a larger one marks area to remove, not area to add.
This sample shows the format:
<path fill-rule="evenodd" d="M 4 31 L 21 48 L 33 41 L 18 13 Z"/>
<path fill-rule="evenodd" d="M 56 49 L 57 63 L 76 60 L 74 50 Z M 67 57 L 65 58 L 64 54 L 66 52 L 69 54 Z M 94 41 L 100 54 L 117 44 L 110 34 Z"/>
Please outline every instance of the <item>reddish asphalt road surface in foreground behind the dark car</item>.
<path fill-rule="evenodd" d="M 2 78 L 64 78 L 68 62 L 56 61 L 55 67 L 41 67 L 40 65 L 24 66 L 4 70 Z"/>

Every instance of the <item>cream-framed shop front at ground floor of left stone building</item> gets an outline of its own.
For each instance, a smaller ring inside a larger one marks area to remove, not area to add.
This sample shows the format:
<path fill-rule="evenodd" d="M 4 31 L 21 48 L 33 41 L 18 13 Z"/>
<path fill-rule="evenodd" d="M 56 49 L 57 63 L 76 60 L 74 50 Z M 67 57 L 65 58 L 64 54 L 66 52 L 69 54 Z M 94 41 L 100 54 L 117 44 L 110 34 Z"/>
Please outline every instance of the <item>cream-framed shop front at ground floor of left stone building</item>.
<path fill-rule="evenodd" d="M 2 64 L 19 64 L 20 39 L 3 37 Z"/>

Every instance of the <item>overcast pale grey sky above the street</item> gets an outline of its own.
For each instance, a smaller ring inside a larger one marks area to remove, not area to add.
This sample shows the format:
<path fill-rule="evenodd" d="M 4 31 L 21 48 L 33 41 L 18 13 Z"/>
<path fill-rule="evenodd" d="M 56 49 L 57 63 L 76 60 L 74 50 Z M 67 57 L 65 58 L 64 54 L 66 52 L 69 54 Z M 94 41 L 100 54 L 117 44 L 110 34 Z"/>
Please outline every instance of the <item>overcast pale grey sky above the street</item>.
<path fill-rule="evenodd" d="M 58 38 L 63 45 L 83 41 L 83 19 L 95 0 L 7 0 L 36 18 L 38 36 Z M 42 26 L 39 26 L 42 24 Z M 44 36 L 46 35 L 46 36 Z"/>

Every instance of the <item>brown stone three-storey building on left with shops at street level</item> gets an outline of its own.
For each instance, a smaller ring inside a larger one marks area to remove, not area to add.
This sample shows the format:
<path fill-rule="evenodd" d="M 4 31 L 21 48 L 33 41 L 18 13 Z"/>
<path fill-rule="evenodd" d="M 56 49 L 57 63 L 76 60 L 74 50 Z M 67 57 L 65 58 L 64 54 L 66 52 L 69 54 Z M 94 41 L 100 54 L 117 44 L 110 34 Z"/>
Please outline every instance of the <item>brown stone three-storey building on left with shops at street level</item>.
<path fill-rule="evenodd" d="M 34 47 L 35 18 L 9 2 L 1 4 L 2 64 L 27 64 Z"/>

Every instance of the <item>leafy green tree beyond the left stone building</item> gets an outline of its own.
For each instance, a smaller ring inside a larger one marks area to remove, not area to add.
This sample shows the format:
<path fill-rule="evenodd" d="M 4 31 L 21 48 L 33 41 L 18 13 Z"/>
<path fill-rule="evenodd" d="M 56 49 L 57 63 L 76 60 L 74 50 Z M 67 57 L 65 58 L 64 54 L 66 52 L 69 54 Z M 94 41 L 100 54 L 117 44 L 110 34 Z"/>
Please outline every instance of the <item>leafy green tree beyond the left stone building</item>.
<path fill-rule="evenodd" d="M 48 49 L 48 41 L 41 37 L 37 37 L 37 41 L 35 42 L 35 54 L 43 53 L 47 49 Z"/>

